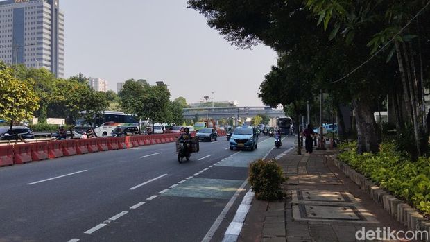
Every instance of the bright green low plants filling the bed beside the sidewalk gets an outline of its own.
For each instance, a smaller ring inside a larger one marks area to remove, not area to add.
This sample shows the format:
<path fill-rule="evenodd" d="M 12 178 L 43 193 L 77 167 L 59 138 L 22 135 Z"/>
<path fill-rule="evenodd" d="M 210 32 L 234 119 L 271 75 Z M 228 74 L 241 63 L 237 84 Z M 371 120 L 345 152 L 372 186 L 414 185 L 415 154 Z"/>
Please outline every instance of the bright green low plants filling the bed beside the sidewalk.
<path fill-rule="evenodd" d="M 379 153 L 356 154 L 356 143 L 343 144 L 338 159 L 349 164 L 395 196 L 430 216 L 430 158 L 411 161 L 394 142 L 381 144 Z"/>

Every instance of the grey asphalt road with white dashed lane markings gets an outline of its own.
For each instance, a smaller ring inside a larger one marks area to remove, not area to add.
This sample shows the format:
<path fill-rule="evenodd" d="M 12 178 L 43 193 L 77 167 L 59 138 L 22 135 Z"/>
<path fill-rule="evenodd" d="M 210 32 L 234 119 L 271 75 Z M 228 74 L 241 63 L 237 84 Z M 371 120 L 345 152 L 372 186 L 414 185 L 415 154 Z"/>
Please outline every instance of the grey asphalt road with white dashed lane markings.
<path fill-rule="evenodd" d="M 168 143 L 3 167 L 0 242 L 221 241 L 250 161 L 292 146 L 261 135 L 257 150 L 232 151 L 219 137 L 182 164 Z"/>

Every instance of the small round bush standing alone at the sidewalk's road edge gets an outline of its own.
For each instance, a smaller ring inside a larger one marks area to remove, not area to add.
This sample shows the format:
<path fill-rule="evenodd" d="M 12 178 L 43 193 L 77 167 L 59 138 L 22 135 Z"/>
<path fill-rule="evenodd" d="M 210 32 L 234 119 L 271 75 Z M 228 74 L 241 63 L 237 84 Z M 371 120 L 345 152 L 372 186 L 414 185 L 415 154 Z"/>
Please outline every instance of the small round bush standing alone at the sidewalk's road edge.
<path fill-rule="evenodd" d="M 286 181 L 275 159 L 257 159 L 250 164 L 248 181 L 258 200 L 279 200 L 284 197 L 281 184 Z"/>

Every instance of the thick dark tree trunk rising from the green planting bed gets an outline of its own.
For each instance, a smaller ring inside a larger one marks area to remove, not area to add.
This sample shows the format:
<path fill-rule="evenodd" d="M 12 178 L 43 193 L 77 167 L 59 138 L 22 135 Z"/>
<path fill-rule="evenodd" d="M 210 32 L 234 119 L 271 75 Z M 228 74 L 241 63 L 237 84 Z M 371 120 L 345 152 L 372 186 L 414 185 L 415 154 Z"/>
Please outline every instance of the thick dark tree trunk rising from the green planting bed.
<path fill-rule="evenodd" d="M 377 153 L 379 150 L 377 127 L 373 117 L 372 101 L 367 97 L 352 101 L 358 136 L 357 153 Z"/>

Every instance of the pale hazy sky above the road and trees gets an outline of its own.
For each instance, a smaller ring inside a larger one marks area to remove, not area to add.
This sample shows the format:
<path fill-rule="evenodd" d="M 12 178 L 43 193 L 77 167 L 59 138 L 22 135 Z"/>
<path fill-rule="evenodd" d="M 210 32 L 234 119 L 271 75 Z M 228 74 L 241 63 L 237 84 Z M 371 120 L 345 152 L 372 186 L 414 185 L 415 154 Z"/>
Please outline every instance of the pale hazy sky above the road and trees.
<path fill-rule="evenodd" d="M 257 92 L 276 64 L 267 46 L 230 45 L 186 0 L 60 0 L 65 12 L 65 78 L 79 72 L 117 82 L 146 79 L 171 85 L 171 98 L 263 105 Z"/>

